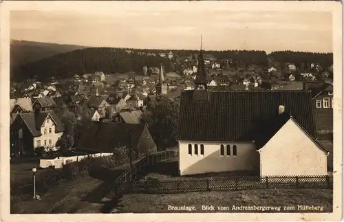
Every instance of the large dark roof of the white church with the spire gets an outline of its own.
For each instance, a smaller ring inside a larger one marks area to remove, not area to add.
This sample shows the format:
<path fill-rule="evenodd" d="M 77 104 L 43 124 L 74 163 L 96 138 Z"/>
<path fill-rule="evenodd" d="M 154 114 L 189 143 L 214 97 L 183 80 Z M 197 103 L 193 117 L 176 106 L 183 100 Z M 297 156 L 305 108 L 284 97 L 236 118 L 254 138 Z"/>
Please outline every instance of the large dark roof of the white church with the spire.
<path fill-rule="evenodd" d="M 208 101 L 193 102 L 193 91 L 182 91 L 178 140 L 256 140 L 257 128 L 274 118 L 280 105 L 316 137 L 310 91 L 208 91 L 208 95 Z"/>

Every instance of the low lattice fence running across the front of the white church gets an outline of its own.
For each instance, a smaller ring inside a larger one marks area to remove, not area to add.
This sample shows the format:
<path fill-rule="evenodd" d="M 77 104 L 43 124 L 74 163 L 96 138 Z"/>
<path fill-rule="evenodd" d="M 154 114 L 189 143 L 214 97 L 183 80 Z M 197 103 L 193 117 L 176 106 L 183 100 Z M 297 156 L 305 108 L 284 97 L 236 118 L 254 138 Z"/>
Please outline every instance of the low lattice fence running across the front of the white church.
<path fill-rule="evenodd" d="M 181 193 L 270 188 L 333 188 L 333 176 L 230 176 L 134 181 L 125 193 Z"/>

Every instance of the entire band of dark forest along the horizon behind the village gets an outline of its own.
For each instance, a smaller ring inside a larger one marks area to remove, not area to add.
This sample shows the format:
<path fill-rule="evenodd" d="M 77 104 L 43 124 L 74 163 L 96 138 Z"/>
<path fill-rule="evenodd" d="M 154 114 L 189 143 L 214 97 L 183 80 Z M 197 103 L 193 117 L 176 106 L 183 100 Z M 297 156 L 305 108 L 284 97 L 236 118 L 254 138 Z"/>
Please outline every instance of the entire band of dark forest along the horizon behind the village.
<path fill-rule="evenodd" d="M 132 53 L 128 53 L 130 50 Z M 94 71 L 104 71 L 105 74 L 125 73 L 135 71 L 142 74 L 142 68 L 160 67 L 162 64 L 165 71 L 174 71 L 175 62 L 180 65 L 181 59 L 169 60 L 162 58 L 159 53 L 173 52 L 177 58 L 185 58 L 191 54 L 199 53 L 197 50 L 158 50 L 158 49 L 123 49 L 114 47 L 93 47 L 77 49 L 72 52 L 56 54 L 41 60 L 26 63 L 21 67 L 12 67 L 11 76 L 14 80 L 25 80 L 37 76 L 40 80 L 47 80 L 50 76 L 55 78 L 70 78 L 74 74 L 94 73 Z M 146 54 L 140 55 L 138 52 Z M 11 52 L 12 53 L 12 52 Z M 156 56 L 147 56 L 148 53 L 155 53 Z M 330 67 L 333 63 L 332 54 L 310 53 L 310 52 L 272 52 L 266 54 L 264 51 L 206 51 L 204 54 L 213 54 L 215 58 L 229 58 L 233 63 L 230 65 L 248 67 L 257 65 L 263 69 L 269 66 L 280 66 L 283 68 L 288 63 L 309 67 L 310 63 L 319 63 L 323 67 Z M 180 67 L 180 66 L 179 66 Z M 177 69 L 180 71 L 180 69 Z"/>

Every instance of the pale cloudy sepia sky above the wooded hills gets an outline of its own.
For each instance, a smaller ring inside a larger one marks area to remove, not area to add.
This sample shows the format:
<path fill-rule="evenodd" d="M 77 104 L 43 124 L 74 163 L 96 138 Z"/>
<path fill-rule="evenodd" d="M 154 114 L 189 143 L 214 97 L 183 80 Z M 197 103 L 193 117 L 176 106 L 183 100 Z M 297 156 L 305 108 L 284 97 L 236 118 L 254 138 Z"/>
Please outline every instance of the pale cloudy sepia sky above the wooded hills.
<path fill-rule="evenodd" d="M 182 10 L 181 10 L 182 9 Z M 332 52 L 332 13 L 183 7 L 12 10 L 10 38 L 145 49 Z"/>

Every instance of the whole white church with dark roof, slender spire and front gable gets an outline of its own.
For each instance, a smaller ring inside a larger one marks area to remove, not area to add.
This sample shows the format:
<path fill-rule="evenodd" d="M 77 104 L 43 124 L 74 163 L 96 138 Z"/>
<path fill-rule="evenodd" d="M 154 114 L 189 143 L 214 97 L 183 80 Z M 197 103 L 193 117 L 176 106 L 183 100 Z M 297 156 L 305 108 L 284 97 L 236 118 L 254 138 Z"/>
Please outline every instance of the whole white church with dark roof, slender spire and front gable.
<path fill-rule="evenodd" d="M 180 98 L 180 175 L 327 175 L 310 91 L 210 91 L 202 49 L 194 83 Z"/>

